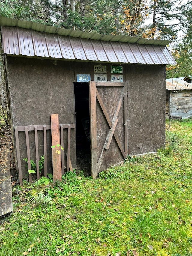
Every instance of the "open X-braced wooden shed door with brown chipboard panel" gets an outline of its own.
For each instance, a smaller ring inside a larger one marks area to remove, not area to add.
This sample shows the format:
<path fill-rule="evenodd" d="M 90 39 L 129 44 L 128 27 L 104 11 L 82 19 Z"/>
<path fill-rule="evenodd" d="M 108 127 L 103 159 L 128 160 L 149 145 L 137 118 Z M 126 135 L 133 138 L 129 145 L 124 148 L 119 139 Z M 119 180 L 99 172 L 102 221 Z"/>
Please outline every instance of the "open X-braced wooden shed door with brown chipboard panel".
<path fill-rule="evenodd" d="M 128 83 L 89 82 L 91 176 L 128 155 Z"/>

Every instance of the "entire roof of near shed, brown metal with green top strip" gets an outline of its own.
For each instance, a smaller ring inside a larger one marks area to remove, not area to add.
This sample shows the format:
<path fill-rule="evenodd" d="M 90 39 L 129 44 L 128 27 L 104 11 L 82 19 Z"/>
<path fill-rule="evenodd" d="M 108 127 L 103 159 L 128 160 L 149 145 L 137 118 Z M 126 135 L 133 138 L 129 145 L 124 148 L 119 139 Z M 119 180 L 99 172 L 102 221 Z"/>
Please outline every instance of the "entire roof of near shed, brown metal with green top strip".
<path fill-rule="evenodd" d="M 11 56 L 110 63 L 176 64 L 168 40 L 73 31 L 0 17 L 3 52 Z"/>

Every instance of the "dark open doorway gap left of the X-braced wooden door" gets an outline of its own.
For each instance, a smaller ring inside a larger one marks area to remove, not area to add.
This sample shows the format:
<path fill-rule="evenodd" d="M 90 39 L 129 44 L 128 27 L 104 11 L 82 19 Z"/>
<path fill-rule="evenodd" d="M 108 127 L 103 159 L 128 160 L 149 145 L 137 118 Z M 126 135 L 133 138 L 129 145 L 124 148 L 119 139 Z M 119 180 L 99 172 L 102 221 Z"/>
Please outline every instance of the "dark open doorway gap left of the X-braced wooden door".
<path fill-rule="evenodd" d="M 77 169 L 91 175 L 89 84 L 74 83 L 76 111 Z"/>

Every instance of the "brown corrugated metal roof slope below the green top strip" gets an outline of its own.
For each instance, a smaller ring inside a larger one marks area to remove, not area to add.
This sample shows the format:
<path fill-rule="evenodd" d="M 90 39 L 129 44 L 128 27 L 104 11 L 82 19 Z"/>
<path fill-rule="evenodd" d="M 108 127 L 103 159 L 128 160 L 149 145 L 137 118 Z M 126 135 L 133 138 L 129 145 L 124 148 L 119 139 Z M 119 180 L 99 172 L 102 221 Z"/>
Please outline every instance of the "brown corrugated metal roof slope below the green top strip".
<path fill-rule="evenodd" d="M 165 46 L 93 40 L 42 33 L 19 27 L 1 27 L 4 53 L 111 63 L 176 64 Z"/>

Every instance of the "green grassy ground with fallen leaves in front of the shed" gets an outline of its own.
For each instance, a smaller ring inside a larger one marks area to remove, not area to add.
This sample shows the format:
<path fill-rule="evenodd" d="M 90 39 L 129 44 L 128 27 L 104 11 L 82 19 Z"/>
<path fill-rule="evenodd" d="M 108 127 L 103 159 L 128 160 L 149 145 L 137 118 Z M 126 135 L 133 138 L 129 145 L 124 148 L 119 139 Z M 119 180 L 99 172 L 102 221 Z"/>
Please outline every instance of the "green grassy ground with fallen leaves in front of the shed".
<path fill-rule="evenodd" d="M 0 256 L 192 256 L 191 129 L 172 121 L 165 149 L 96 180 L 68 173 L 55 186 L 13 187 Z"/>

